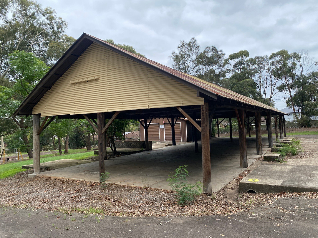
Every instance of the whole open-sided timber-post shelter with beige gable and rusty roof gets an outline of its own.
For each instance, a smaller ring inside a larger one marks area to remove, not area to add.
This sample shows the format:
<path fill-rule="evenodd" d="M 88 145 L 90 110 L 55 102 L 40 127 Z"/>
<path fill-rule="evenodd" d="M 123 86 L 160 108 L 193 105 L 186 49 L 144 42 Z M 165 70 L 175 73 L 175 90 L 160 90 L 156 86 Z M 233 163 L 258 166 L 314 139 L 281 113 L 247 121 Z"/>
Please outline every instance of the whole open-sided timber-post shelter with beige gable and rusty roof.
<path fill-rule="evenodd" d="M 33 175 L 40 173 L 39 135 L 56 116 L 86 118 L 97 131 L 100 174 L 105 171 L 105 131 L 115 118 L 144 119 L 146 141 L 147 119 L 187 118 L 201 131 L 204 193 L 211 193 L 212 119 L 226 117 L 231 123 L 232 117 L 238 118 L 240 163 L 247 167 L 245 117 L 256 118 L 257 153 L 262 154 L 261 116 L 267 116 L 271 125 L 272 116 L 284 113 L 83 33 L 17 108 L 16 115 L 33 115 Z M 44 117 L 41 125 L 40 117 Z M 271 126 L 268 139 L 271 147 Z"/>

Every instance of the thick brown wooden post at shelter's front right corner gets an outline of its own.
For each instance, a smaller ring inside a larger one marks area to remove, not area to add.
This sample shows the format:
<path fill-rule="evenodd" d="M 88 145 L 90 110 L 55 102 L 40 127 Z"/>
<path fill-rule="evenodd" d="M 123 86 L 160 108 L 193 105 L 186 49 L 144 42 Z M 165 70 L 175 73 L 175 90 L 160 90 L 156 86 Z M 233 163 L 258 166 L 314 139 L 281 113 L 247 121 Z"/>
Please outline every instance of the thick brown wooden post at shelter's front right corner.
<path fill-rule="evenodd" d="M 202 172 L 203 192 L 212 193 L 211 186 L 211 153 L 209 136 L 209 103 L 204 100 L 201 105 L 201 142 L 202 142 Z"/>

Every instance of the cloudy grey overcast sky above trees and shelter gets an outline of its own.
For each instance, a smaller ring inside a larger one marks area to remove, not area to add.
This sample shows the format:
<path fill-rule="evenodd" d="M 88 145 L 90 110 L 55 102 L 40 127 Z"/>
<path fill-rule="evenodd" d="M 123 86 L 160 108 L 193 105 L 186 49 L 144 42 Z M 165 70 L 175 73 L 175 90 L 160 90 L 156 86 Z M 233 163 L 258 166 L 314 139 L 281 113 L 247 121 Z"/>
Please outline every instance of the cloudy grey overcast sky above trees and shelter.
<path fill-rule="evenodd" d="M 318 4 L 314 0 L 37 0 L 68 22 L 66 34 L 83 32 L 172 66 L 169 55 L 180 40 L 195 37 L 204 49 L 226 55 L 248 50 L 250 57 L 281 49 L 309 51 L 318 59 Z M 276 102 L 282 109 L 285 103 Z"/>

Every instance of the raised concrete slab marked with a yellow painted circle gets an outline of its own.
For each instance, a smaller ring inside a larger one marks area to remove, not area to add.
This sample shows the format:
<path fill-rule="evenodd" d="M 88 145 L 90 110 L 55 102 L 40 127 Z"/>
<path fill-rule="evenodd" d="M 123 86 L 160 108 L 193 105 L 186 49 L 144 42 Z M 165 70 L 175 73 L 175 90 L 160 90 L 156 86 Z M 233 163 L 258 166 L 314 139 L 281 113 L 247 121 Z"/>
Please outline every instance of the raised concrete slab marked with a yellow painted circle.
<path fill-rule="evenodd" d="M 239 183 L 239 192 L 318 192 L 318 166 L 260 164 Z"/>

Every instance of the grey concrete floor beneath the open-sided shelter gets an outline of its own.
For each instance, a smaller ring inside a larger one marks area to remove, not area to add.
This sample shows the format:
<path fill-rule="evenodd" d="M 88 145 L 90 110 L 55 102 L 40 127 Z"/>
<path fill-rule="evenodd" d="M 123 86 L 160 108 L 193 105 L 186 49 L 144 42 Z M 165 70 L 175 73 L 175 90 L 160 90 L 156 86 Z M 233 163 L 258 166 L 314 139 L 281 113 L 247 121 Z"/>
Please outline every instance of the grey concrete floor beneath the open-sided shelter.
<path fill-rule="evenodd" d="M 252 164 L 256 155 L 255 137 L 247 137 L 248 164 Z M 212 191 L 217 192 L 232 181 L 245 168 L 240 168 L 239 138 L 213 138 L 211 144 Z M 169 173 L 180 165 L 189 166 L 189 183 L 202 181 L 202 154 L 194 152 L 194 143 L 168 146 L 149 152 L 112 158 L 105 161 L 105 170 L 110 173 L 107 182 L 123 185 L 145 186 L 170 189 L 166 181 Z M 263 138 L 263 152 L 268 148 L 268 139 Z M 67 178 L 86 181 L 99 181 L 98 161 L 88 164 L 42 172 L 40 176 Z"/>

